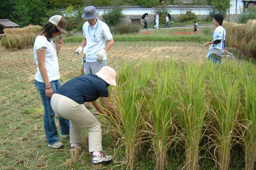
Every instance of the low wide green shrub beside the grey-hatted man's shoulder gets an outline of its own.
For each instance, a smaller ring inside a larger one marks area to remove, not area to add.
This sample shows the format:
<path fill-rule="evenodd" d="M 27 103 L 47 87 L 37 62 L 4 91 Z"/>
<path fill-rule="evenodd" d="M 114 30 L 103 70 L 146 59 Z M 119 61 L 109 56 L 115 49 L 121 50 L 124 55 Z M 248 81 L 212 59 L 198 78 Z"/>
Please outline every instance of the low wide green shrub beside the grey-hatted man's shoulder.
<path fill-rule="evenodd" d="M 111 33 L 113 34 L 129 34 L 129 33 L 139 33 L 140 26 L 135 24 L 125 25 L 125 24 L 118 24 L 115 27 L 110 27 Z"/>

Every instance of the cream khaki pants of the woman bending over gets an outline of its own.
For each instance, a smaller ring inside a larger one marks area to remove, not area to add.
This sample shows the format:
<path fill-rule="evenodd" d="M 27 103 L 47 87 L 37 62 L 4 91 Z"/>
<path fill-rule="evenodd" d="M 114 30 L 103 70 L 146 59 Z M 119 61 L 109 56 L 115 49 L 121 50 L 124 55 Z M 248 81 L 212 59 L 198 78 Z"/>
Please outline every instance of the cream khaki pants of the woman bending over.
<path fill-rule="evenodd" d="M 51 105 L 58 116 L 70 120 L 70 143 L 81 141 L 81 127 L 85 127 L 89 130 L 89 152 L 102 151 L 100 123 L 84 104 L 77 104 L 68 97 L 54 93 Z"/>

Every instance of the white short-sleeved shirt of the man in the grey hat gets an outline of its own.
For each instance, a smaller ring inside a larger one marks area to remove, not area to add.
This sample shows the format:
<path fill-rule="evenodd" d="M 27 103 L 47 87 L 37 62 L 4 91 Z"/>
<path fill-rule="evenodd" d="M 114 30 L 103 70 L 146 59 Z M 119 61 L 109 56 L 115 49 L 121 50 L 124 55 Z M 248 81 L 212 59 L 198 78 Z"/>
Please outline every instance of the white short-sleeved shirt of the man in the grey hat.
<path fill-rule="evenodd" d="M 94 26 L 90 26 L 89 22 L 85 22 L 83 25 L 83 36 L 86 38 L 86 46 L 84 52 L 86 52 L 86 62 L 97 61 L 97 56 L 100 50 L 106 47 L 106 40 L 109 41 L 113 38 L 109 27 L 106 23 L 97 19 Z M 105 55 L 103 60 L 106 60 Z"/>

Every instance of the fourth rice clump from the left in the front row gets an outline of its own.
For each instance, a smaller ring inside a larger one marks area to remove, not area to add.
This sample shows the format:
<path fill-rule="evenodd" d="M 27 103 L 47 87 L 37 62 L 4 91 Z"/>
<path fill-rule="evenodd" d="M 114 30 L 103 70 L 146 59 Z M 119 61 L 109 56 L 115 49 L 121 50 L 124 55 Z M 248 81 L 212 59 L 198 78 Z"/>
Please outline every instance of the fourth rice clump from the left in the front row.
<path fill-rule="evenodd" d="M 230 64 L 232 69 L 238 68 L 236 64 Z M 228 65 L 214 65 L 213 76 L 210 76 L 212 100 L 211 112 L 211 139 L 215 145 L 214 157 L 219 169 L 228 169 L 230 163 L 230 149 L 234 143 L 234 130 L 240 109 L 239 81 L 233 73 L 226 72 Z"/>

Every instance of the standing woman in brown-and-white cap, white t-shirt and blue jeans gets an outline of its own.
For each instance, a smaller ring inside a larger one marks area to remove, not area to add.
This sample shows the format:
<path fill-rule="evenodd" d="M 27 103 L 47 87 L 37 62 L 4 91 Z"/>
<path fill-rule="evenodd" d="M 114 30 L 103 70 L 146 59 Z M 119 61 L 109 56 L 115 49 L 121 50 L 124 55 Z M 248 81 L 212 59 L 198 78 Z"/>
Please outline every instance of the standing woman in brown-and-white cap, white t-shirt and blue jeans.
<path fill-rule="evenodd" d="M 55 124 L 55 113 L 51 107 L 51 97 L 61 86 L 58 56 L 60 54 L 63 40 L 61 33 L 67 34 L 65 28 L 67 21 L 61 15 L 54 15 L 45 24 L 40 35 L 36 36 L 34 43 L 34 58 L 36 61 L 37 72 L 35 75 L 35 86 L 38 89 L 44 105 L 44 130 L 48 146 L 52 148 L 61 148 L 63 144 Z M 56 45 L 52 38 L 59 36 Z M 61 134 L 65 137 L 69 135 L 69 121 L 60 118 Z"/>

